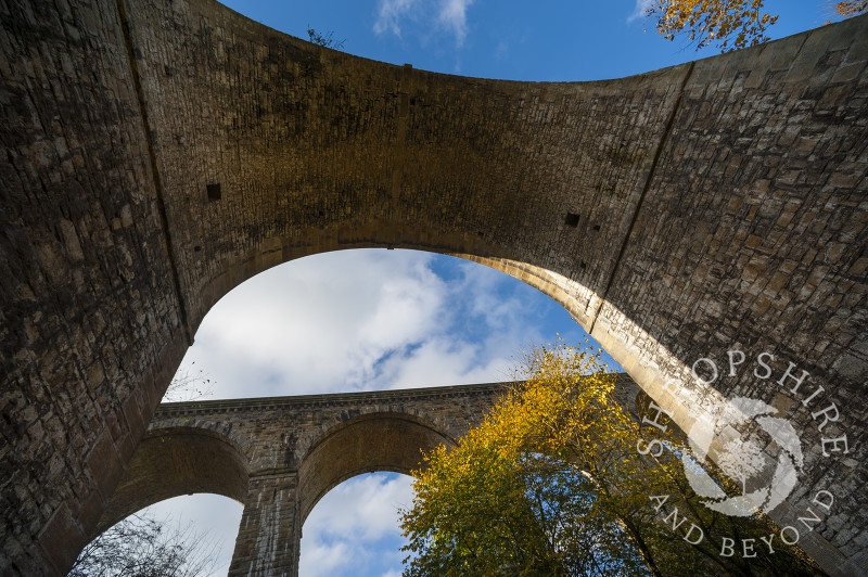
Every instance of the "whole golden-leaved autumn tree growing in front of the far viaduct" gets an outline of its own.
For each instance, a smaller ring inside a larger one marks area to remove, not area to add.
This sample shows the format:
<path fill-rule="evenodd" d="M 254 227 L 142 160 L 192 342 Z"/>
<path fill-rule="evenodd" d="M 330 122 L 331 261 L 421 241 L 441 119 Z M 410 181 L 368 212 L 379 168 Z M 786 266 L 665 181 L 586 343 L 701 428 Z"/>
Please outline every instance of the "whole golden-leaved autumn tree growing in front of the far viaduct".
<path fill-rule="evenodd" d="M 523 370 L 527 381 L 458 447 L 426 456 L 401 521 L 405 575 L 818 574 L 782 546 L 774 559 L 760 549 L 722 557 L 720 536 L 756 538 L 774 525 L 699 503 L 674 431 L 659 432 L 665 454 L 641 454 L 646 432 L 598 355 L 541 347 Z"/>

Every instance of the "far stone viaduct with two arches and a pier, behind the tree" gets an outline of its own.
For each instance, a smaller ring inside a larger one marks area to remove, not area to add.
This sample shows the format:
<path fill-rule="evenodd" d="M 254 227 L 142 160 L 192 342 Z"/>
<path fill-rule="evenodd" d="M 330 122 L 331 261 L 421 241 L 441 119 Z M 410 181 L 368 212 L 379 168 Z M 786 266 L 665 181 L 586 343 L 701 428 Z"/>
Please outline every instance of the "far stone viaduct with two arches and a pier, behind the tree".
<path fill-rule="evenodd" d="M 634 385 L 635 387 L 635 385 Z M 244 503 L 229 575 L 298 574 L 301 527 L 361 473 L 409 474 L 478 424 L 502 383 L 161 405 L 97 531 L 193 492 Z"/>

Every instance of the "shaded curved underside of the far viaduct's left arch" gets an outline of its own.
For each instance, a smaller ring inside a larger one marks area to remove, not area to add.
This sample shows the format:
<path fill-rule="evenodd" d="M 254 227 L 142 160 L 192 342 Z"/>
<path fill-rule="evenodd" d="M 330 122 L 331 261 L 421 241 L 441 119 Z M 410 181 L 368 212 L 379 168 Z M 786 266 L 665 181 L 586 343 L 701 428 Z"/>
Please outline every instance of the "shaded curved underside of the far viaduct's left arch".
<path fill-rule="evenodd" d="M 247 458 L 225 435 L 195 426 L 149 431 L 91 538 L 136 511 L 181 495 L 210 492 L 243 503 L 248 479 Z"/>

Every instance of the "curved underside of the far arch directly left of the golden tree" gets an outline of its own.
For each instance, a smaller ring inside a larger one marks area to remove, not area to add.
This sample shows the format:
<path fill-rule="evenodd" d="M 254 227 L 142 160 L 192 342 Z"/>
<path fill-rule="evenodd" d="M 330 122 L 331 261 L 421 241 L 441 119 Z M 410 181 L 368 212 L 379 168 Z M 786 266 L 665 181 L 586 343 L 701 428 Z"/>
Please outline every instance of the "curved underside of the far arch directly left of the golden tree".
<path fill-rule="evenodd" d="M 373 412 L 332 426 L 298 464 L 301 523 L 332 488 L 363 473 L 409 475 L 421 466 L 422 451 L 455 439 L 429 421 L 407 413 Z"/>

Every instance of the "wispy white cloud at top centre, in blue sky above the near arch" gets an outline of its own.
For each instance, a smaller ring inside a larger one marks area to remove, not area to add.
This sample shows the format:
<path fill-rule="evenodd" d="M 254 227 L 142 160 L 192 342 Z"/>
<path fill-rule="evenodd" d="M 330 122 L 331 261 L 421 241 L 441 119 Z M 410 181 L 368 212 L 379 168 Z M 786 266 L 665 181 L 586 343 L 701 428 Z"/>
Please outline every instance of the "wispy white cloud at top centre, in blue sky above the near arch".
<path fill-rule="evenodd" d="M 468 35 L 468 8 L 473 0 L 380 0 L 373 31 L 401 38 L 407 23 L 418 23 L 424 37 L 444 30 L 461 47 Z"/>

